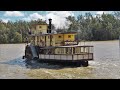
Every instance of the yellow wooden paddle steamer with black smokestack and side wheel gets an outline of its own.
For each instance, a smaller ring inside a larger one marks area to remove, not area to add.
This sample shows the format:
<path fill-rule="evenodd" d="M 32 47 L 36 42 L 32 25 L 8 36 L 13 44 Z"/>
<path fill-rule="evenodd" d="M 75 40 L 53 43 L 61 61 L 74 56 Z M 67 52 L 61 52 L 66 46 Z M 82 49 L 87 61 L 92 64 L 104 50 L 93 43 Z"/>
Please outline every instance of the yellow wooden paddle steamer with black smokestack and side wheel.
<path fill-rule="evenodd" d="M 49 25 L 37 24 L 29 34 L 25 58 L 47 63 L 88 66 L 93 60 L 93 46 L 79 45 L 76 32 L 52 33 Z"/>

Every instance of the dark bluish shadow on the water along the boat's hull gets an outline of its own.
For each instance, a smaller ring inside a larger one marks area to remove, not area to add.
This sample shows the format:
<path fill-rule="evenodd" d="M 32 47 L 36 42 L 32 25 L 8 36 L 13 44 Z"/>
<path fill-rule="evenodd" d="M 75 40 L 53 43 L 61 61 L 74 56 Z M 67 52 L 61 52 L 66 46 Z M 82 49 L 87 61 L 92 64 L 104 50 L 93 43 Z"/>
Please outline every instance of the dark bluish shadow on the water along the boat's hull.
<path fill-rule="evenodd" d="M 74 65 L 58 65 L 58 64 L 51 64 L 51 63 L 44 63 L 44 62 L 39 62 L 37 60 L 27 60 L 27 59 L 22 59 L 16 58 L 13 60 L 9 60 L 6 62 L 0 62 L 0 64 L 8 64 L 8 65 L 18 65 L 21 67 L 26 67 L 29 69 L 40 69 L 40 68 L 46 68 L 46 69 L 63 69 L 63 68 L 74 68 L 77 66 Z"/>

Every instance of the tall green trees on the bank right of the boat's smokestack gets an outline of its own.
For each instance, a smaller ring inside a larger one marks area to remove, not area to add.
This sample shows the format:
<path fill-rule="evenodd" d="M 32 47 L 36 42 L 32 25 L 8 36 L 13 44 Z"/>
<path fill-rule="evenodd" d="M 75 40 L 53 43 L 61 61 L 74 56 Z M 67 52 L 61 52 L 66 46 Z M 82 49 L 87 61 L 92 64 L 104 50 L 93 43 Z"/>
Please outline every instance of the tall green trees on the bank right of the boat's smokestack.
<path fill-rule="evenodd" d="M 69 16 L 71 24 L 68 31 L 78 31 L 78 39 L 82 40 L 114 40 L 120 35 L 120 12 L 93 16 L 86 13 L 77 19 Z"/>

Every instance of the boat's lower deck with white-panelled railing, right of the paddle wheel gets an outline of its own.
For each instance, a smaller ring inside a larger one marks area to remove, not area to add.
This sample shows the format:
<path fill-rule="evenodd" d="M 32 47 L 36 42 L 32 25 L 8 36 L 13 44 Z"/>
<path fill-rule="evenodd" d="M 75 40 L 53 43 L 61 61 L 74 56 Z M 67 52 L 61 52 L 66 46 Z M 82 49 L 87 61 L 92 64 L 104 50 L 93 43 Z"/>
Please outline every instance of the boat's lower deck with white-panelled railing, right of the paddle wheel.
<path fill-rule="evenodd" d="M 72 48 L 69 51 L 70 53 L 66 52 L 67 50 L 66 47 L 43 49 L 44 52 L 39 54 L 39 58 L 55 59 L 55 60 L 93 60 L 93 50 L 92 50 L 93 46 L 79 46 L 77 48 L 69 46 L 67 48 Z M 65 49 L 65 52 L 63 49 Z M 63 52 L 58 53 L 57 51 L 63 51 Z"/>

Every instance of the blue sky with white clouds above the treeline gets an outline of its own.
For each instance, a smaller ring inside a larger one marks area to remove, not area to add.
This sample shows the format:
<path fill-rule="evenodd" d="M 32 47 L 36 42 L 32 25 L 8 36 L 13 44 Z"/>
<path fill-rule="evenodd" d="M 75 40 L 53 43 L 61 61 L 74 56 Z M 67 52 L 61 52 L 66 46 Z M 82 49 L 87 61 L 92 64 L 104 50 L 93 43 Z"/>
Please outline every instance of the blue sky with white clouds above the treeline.
<path fill-rule="evenodd" d="M 52 23 L 56 28 L 66 27 L 66 17 L 84 15 L 86 12 L 90 12 L 94 16 L 96 14 L 112 13 L 113 11 L 0 11 L 0 19 L 7 23 L 8 21 L 17 21 L 17 20 L 37 20 L 42 19 L 46 20 L 52 19 Z"/>

